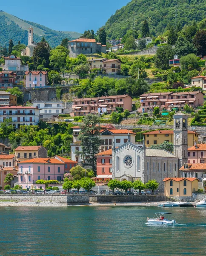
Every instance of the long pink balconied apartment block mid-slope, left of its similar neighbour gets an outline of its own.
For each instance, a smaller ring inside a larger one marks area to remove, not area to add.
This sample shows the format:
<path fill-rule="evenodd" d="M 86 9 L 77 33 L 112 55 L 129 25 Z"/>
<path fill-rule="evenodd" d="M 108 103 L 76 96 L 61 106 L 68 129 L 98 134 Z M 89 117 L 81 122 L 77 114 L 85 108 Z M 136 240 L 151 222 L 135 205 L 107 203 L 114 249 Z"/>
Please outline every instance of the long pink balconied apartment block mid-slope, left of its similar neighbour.
<path fill-rule="evenodd" d="M 112 113 L 116 107 L 132 110 L 132 97 L 128 94 L 116 96 L 102 96 L 97 98 L 74 99 L 71 116 L 85 116 L 87 114 Z"/>

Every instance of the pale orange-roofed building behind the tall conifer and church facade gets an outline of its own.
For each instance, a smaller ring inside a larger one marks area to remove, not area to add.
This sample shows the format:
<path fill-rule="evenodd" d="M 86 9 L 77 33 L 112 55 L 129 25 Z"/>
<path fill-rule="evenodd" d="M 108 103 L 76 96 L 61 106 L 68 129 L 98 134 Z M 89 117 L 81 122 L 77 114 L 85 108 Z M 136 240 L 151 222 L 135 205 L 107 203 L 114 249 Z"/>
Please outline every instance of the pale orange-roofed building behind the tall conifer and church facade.
<path fill-rule="evenodd" d="M 81 157 L 77 154 L 78 151 L 81 151 L 80 140 L 78 140 L 78 136 L 80 133 L 79 127 L 73 128 L 73 142 L 71 145 L 71 159 L 73 161 L 81 162 Z M 114 140 L 116 146 L 121 146 L 123 143 L 126 143 L 128 140 L 128 133 L 130 135 L 130 141 L 135 143 L 136 134 L 133 131 L 129 131 L 127 129 L 108 129 L 103 128 L 100 130 L 100 152 L 109 150 L 112 148 L 112 142 Z"/>

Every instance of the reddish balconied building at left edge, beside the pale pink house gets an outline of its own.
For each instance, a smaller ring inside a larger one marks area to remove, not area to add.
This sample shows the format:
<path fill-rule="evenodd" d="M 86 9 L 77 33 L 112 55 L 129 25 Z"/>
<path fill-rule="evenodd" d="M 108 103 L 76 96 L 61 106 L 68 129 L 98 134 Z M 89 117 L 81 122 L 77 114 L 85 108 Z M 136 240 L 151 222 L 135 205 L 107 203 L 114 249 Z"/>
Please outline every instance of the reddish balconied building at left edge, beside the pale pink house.
<path fill-rule="evenodd" d="M 0 88 L 9 89 L 17 83 L 17 74 L 13 71 L 0 71 Z"/>

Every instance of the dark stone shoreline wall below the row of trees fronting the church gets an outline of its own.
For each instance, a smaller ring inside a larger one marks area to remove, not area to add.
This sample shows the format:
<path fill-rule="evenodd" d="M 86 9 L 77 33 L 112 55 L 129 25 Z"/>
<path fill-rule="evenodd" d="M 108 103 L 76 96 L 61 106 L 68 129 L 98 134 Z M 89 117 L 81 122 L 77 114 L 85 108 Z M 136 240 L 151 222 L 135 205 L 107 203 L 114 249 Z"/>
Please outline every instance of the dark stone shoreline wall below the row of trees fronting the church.
<path fill-rule="evenodd" d="M 91 203 L 135 203 L 168 201 L 164 195 L 89 195 Z"/>

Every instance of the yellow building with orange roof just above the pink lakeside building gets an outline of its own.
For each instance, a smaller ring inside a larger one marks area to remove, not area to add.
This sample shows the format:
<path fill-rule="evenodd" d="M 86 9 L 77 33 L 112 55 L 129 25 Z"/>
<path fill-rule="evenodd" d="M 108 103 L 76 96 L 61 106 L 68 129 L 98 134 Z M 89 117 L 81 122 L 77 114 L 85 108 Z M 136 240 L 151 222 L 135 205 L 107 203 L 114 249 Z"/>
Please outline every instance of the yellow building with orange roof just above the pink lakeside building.
<path fill-rule="evenodd" d="M 14 149 L 17 162 L 31 158 L 46 158 L 47 150 L 43 146 L 18 146 Z"/>

